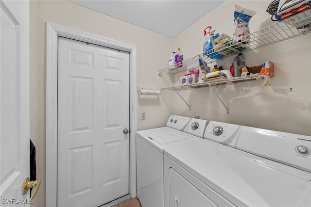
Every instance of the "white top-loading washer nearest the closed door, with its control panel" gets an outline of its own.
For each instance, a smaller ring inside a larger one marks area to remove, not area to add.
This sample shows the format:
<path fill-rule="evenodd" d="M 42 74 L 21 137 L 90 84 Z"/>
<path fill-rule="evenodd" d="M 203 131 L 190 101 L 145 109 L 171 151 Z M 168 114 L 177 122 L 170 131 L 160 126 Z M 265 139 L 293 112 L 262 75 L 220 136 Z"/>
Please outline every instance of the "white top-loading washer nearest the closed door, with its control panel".
<path fill-rule="evenodd" d="M 164 206 L 163 150 L 202 140 L 207 121 L 171 115 L 166 127 L 136 132 L 137 192 L 142 207 Z"/>

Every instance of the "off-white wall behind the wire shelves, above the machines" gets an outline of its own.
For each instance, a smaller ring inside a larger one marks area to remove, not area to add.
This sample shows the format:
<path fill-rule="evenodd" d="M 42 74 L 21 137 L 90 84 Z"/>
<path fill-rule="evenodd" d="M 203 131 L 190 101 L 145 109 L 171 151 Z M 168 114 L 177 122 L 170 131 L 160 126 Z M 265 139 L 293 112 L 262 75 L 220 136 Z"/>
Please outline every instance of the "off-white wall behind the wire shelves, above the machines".
<path fill-rule="evenodd" d="M 250 32 L 258 31 L 274 24 L 266 9 L 270 0 L 227 0 L 212 12 L 193 24 L 185 32 L 173 39 L 173 48 L 181 47 L 184 58 L 191 58 L 202 53 L 204 42 L 203 30 L 212 26 L 219 33 L 232 36 L 233 13 L 236 4 L 257 11 L 250 20 Z M 279 43 L 264 46 L 243 53 L 247 66 L 261 65 L 267 60 L 275 64 L 275 77 L 270 79 L 274 86 L 294 86 L 294 95 L 304 98 L 311 104 L 311 33 L 298 36 Z M 229 69 L 233 57 L 215 64 Z M 214 64 L 213 64 L 214 65 Z M 213 66 L 209 65 L 209 66 Z M 184 71 L 174 76 L 174 84 Z M 301 110 L 298 104 L 278 100 L 265 95 L 244 98 L 229 103 L 230 98 L 240 95 L 240 87 L 258 86 L 262 80 L 240 82 L 234 85 L 218 86 L 216 91 L 229 108 L 226 110 L 209 87 L 181 91 L 180 94 L 190 103 L 191 111 L 178 95 L 174 95 L 174 114 L 184 116 L 200 115 L 201 118 L 216 120 L 251 127 L 260 127 L 311 136 L 311 106 Z"/>

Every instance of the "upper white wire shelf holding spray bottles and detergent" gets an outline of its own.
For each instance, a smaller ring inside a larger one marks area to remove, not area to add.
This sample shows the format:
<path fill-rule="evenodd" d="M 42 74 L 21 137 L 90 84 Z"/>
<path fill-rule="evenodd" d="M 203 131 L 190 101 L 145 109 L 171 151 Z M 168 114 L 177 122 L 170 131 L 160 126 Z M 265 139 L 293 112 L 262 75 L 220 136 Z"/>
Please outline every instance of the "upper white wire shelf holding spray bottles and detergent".
<path fill-rule="evenodd" d="M 196 55 L 190 59 L 184 60 L 176 64 L 158 71 L 161 73 L 177 73 L 178 70 L 186 70 L 191 67 L 199 66 L 199 59 L 207 64 L 211 64 L 217 60 L 230 57 L 234 54 L 259 48 L 261 46 L 276 43 L 282 40 L 292 38 L 297 35 L 305 34 L 311 31 L 311 9 L 291 16 L 283 21 L 276 22 L 259 31 L 253 32 L 239 39 L 217 46 L 205 53 Z M 207 55 L 206 55 L 207 54 Z M 223 57 L 219 58 L 219 54 Z"/>

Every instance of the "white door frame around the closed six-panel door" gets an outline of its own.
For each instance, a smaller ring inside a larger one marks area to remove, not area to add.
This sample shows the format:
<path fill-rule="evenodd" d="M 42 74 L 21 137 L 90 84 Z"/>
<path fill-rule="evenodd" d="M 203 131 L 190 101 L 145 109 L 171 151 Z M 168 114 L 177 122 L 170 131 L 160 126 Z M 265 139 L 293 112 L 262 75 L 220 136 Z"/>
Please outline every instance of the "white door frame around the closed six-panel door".
<path fill-rule="evenodd" d="M 137 129 L 136 47 L 99 35 L 46 22 L 46 207 L 57 206 L 58 36 L 108 48 L 120 49 L 130 53 L 129 195 L 130 197 L 137 197 L 135 143 Z"/>

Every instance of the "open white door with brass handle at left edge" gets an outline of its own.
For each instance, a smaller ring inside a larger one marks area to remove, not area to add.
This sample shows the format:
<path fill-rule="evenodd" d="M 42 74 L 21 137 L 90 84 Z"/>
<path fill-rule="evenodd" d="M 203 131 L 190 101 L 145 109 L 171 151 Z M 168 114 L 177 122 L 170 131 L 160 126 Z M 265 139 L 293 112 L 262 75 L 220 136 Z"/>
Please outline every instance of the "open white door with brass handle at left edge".
<path fill-rule="evenodd" d="M 29 1 L 0 0 L 0 206 L 29 206 Z"/>

